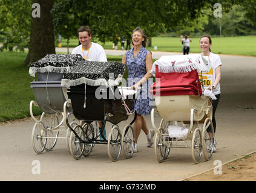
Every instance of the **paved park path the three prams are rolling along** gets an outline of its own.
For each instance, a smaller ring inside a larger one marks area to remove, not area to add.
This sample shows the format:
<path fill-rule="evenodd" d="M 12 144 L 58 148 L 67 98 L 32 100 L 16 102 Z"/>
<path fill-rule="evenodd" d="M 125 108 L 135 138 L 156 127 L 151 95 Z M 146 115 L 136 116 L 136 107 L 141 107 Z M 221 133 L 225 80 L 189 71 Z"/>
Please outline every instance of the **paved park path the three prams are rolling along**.
<path fill-rule="evenodd" d="M 106 52 L 122 55 L 123 51 Z M 155 57 L 156 54 L 153 52 Z M 220 57 L 223 69 L 222 96 L 216 115 L 218 149 L 208 162 L 202 159 L 195 165 L 191 149 L 172 148 L 168 159 L 158 163 L 154 148 L 146 148 L 143 131 L 139 138 L 139 153 L 132 159 L 121 155 L 119 161 L 111 162 L 107 145 L 96 145 L 90 156 L 74 160 L 64 139 L 57 141 L 53 151 L 38 155 L 31 146 L 34 121 L 28 119 L 0 126 L 0 180 L 180 180 L 214 168 L 215 160 L 225 163 L 251 153 L 256 149 L 256 58 Z M 121 122 L 121 130 L 128 122 Z M 149 116 L 146 116 L 146 122 L 152 128 Z M 108 124 L 107 133 L 110 129 Z M 34 160 L 41 164 L 40 175 L 32 173 Z"/>

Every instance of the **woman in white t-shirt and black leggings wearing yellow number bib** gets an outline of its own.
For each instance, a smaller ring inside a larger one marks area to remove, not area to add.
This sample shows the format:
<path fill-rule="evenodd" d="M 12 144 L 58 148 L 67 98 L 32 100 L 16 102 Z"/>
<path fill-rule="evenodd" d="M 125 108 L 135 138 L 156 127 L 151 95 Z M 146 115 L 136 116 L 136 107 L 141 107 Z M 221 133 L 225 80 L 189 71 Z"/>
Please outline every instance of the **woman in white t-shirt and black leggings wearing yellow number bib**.
<path fill-rule="evenodd" d="M 204 86 L 208 86 L 209 90 L 216 96 L 217 100 L 212 101 L 212 124 L 214 126 L 214 134 L 216 131 L 215 111 L 220 100 L 220 79 L 222 78 L 222 61 L 217 54 L 211 52 L 212 40 L 208 35 L 200 37 L 200 49 L 203 56 L 209 56 L 209 62 L 212 67 L 208 72 L 203 72 Z M 211 125 L 210 125 L 211 126 Z M 215 136 L 214 136 L 215 137 Z M 217 141 L 214 138 L 214 152 L 216 151 Z"/>

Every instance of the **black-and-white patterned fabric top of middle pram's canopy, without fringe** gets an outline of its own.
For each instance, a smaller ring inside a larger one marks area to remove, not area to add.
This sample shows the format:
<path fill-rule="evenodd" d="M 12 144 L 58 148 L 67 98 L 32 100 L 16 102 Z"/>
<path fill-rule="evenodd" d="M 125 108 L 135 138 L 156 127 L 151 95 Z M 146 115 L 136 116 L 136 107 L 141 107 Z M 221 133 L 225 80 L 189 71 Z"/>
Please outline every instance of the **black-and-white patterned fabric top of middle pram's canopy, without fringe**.
<path fill-rule="evenodd" d="M 97 80 L 115 80 L 125 72 L 125 65 L 119 62 L 94 62 L 84 60 L 72 66 L 69 72 L 64 73 L 63 79 L 76 80 L 78 78 L 88 78 Z"/>

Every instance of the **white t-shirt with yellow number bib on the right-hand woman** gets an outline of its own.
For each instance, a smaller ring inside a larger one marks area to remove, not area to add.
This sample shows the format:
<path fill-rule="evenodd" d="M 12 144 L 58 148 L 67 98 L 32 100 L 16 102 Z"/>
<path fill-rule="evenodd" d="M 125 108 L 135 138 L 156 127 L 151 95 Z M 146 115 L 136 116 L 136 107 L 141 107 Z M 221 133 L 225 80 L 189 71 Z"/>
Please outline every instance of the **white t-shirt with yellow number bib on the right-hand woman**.
<path fill-rule="evenodd" d="M 222 65 L 222 60 L 220 60 L 220 57 L 217 54 L 210 52 L 209 63 L 212 65 L 212 68 L 208 72 L 203 72 L 202 83 L 204 86 L 213 86 L 216 78 L 215 69 L 218 68 L 218 66 Z M 199 72 L 199 76 L 201 78 L 200 72 Z M 218 83 L 216 88 L 212 90 L 212 93 L 214 93 L 214 95 L 218 95 L 220 93 L 220 83 Z"/>

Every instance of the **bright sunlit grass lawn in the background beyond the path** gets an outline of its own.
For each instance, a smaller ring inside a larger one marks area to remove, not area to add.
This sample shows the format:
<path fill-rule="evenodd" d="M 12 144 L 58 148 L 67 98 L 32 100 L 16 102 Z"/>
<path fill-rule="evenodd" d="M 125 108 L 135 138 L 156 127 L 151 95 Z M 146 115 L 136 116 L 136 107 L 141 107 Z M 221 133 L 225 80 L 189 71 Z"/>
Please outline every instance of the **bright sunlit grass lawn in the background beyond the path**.
<path fill-rule="evenodd" d="M 191 53 L 201 52 L 199 48 L 199 37 L 191 37 Z M 62 41 L 62 46 L 67 46 L 67 41 Z M 97 40 L 104 49 L 113 49 L 112 42 L 102 43 Z M 233 54 L 233 55 L 254 55 L 256 56 L 256 36 L 236 36 L 236 37 L 212 37 L 212 52 L 215 54 Z M 70 40 L 70 47 L 78 45 L 78 39 Z M 57 45 L 56 45 L 57 46 Z M 126 43 L 125 43 L 126 46 Z M 179 37 L 153 37 L 152 47 L 147 47 L 154 51 L 154 46 L 157 46 L 157 51 L 181 52 L 182 43 Z M 121 49 L 120 42 L 118 49 Z"/>

